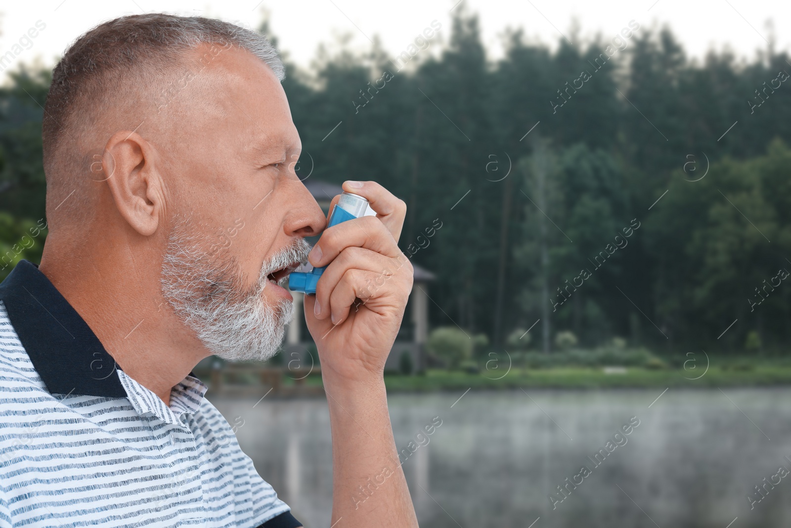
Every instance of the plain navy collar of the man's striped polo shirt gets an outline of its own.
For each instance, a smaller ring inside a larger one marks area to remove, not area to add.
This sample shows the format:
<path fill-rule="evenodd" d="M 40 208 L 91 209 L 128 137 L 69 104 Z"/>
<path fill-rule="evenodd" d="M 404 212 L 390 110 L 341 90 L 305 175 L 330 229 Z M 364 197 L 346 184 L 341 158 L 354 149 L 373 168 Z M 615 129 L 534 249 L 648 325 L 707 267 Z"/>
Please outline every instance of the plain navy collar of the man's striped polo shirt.
<path fill-rule="evenodd" d="M 36 264 L 21 260 L 0 300 L 50 393 L 127 397 L 115 359 Z"/>

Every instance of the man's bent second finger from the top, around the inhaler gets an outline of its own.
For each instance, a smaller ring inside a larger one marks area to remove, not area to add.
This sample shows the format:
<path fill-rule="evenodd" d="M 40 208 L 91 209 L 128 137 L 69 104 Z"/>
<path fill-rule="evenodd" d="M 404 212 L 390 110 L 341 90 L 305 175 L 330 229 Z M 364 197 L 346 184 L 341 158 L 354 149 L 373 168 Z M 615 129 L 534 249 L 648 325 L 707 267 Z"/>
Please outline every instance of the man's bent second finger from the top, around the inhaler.
<path fill-rule="evenodd" d="M 384 223 L 376 217 L 363 216 L 324 230 L 308 254 L 308 260 L 312 266 L 320 268 L 329 264 L 348 247 L 370 249 L 389 257 L 401 254 L 398 244 Z"/>

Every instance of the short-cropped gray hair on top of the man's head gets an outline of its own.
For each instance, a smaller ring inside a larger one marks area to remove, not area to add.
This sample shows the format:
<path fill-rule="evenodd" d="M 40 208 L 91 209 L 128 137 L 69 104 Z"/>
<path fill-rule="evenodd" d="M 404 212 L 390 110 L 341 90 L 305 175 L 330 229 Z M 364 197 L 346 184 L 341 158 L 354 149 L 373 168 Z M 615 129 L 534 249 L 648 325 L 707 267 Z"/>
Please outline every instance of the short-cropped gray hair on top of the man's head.
<path fill-rule="evenodd" d="M 267 64 L 280 81 L 286 77 L 278 51 L 265 36 L 229 22 L 148 13 L 97 25 L 74 41 L 52 72 L 41 123 L 47 192 L 60 194 L 60 182 L 51 182 L 51 173 L 69 165 L 76 169 L 74 159 L 55 158 L 63 136 L 83 129 L 94 106 L 107 101 L 111 90 L 124 82 L 134 85 L 161 78 L 184 61 L 186 51 L 201 44 L 244 49 Z"/>

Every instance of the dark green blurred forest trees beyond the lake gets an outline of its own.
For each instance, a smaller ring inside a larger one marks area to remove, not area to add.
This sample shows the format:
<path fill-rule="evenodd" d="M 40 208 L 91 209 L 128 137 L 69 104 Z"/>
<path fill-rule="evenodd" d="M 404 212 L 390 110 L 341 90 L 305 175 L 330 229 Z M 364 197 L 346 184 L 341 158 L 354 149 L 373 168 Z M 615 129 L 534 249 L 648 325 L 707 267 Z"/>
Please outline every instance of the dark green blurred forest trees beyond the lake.
<path fill-rule="evenodd" d="M 283 83 L 301 177 L 377 180 L 407 201 L 400 245 L 437 275 L 432 325 L 505 344 L 540 319 L 539 348 L 572 331 L 676 353 L 743 351 L 754 332 L 753 348 L 782 350 L 789 55 L 696 62 L 670 30 L 629 21 L 556 51 L 511 31 L 493 63 L 463 9 L 450 28 L 426 21 L 433 40 L 407 55 L 322 51 Z M 0 205 L 34 223 L 46 91 L 46 73 L 23 71 L 0 94 Z"/>

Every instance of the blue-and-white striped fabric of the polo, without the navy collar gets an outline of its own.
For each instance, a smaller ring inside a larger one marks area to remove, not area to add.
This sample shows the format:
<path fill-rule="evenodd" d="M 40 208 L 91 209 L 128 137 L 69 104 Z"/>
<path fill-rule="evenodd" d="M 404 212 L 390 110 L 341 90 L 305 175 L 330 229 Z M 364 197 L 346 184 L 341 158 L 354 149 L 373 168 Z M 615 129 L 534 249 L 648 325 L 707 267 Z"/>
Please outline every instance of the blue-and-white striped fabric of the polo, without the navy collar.
<path fill-rule="evenodd" d="M 260 526 L 289 511 L 198 378 L 168 407 L 112 375 L 127 397 L 49 393 L 0 302 L 0 528 Z"/>

